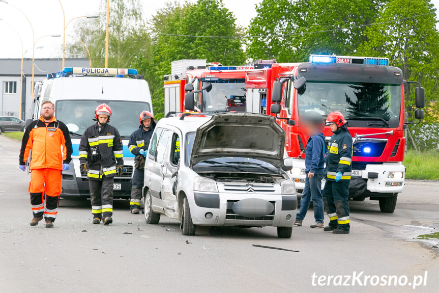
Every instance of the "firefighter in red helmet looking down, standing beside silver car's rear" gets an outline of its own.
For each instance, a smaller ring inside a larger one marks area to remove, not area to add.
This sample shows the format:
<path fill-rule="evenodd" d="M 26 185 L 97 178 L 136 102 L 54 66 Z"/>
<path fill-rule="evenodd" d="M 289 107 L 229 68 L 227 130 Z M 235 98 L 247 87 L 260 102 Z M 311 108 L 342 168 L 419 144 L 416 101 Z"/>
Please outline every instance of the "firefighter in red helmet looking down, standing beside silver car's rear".
<path fill-rule="evenodd" d="M 139 214 L 140 200 L 142 198 L 143 174 L 145 168 L 145 156 L 153 136 L 156 122 L 151 112 L 142 111 L 139 115 L 139 129 L 135 130 L 128 143 L 128 149 L 135 155 L 134 175 L 131 188 L 130 210 L 131 214 Z"/>

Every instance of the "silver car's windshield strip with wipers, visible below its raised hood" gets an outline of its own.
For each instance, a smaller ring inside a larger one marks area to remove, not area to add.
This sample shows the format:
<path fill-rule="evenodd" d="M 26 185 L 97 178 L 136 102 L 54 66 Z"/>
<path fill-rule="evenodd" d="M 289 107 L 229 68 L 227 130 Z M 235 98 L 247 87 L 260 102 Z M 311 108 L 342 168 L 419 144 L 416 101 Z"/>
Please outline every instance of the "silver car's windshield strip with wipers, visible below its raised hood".
<path fill-rule="evenodd" d="M 195 164 L 192 169 L 195 172 L 279 173 L 275 166 L 260 159 L 231 156 L 207 159 Z"/>

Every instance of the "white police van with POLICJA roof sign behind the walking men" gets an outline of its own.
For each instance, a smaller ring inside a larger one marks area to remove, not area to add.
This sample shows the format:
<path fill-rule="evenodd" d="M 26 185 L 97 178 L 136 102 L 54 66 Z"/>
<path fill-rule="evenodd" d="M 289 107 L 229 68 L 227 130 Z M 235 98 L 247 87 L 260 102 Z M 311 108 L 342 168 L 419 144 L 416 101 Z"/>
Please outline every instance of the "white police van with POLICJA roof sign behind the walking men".
<path fill-rule="evenodd" d="M 55 118 L 67 125 L 73 145 L 70 170 L 62 172 L 61 197 L 90 197 L 87 176 L 79 170 L 79 141 L 84 130 L 96 123 L 96 107 L 106 103 L 112 111 L 110 125 L 119 130 L 124 146 L 124 173 L 114 177 L 114 198 L 130 198 L 134 155 L 128 150 L 128 141 L 139 128 L 139 114 L 143 110 L 153 113 L 150 89 L 143 76 L 136 69 L 66 67 L 48 74 L 38 87 L 29 120 L 40 117 L 44 100 L 55 104 Z"/>

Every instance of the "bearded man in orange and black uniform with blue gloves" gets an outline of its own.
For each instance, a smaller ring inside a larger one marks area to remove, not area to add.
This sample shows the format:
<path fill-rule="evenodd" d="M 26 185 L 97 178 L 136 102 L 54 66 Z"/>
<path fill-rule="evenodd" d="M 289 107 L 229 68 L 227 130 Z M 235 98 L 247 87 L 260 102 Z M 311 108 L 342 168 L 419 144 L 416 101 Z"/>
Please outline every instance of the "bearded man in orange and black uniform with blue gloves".
<path fill-rule="evenodd" d="M 53 114 L 55 105 L 41 103 L 41 116 L 26 127 L 21 141 L 20 169 L 26 171 L 25 162 L 31 152 L 31 207 L 34 218 L 31 226 L 46 220 L 46 228 L 52 228 L 61 194 L 61 171 L 69 170 L 72 142 L 69 129 L 57 121 Z M 45 205 L 44 205 L 45 200 Z"/>

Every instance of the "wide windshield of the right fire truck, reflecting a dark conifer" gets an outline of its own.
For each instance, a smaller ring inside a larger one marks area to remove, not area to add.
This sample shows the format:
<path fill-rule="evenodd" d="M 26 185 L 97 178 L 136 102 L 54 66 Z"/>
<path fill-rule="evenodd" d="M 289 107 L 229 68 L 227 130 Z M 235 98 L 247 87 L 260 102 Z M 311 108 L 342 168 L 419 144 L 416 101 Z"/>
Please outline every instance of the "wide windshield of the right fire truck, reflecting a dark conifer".
<path fill-rule="evenodd" d="M 289 93 L 292 91 L 289 90 Z M 286 103 L 291 109 L 291 98 Z M 309 81 L 305 90 L 299 91 L 298 107 L 299 116 L 307 111 L 323 116 L 339 111 L 349 121 L 349 126 L 397 127 L 401 112 L 401 86 Z"/>

